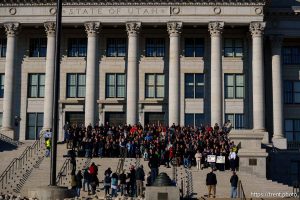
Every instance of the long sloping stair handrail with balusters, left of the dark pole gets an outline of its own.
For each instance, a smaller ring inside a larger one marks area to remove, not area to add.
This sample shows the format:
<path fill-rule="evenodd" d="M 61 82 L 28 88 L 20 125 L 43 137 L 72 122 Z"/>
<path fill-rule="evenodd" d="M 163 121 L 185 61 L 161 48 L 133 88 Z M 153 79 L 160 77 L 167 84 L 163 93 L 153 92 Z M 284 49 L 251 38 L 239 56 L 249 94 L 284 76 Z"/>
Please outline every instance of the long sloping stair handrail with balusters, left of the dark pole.
<path fill-rule="evenodd" d="M 3 171 L 0 176 L 1 189 L 3 189 L 4 185 L 7 184 L 9 179 L 12 178 L 13 173 L 16 173 L 18 169 L 21 169 L 25 165 L 25 162 L 39 151 L 43 143 L 42 138 L 44 136 L 44 133 L 45 131 L 42 130 L 40 132 L 40 138 L 36 140 L 31 146 L 26 147 L 22 154 L 18 158 L 14 158 L 7 166 L 7 168 Z"/>

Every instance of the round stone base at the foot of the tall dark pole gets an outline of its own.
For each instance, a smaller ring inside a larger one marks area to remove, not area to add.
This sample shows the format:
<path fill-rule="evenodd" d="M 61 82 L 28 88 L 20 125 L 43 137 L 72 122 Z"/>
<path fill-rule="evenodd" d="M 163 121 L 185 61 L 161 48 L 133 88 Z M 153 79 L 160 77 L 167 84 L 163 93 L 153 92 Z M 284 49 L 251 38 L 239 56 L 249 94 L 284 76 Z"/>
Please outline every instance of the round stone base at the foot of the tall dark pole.
<path fill-rule="evenodd" d="M 65 199 L 74 198 L 75 191 L 69 190 L 67 187 L 59 186 L 41 186 L 30 188 L 28 190 L 28 198 L 33 199 Z"/>

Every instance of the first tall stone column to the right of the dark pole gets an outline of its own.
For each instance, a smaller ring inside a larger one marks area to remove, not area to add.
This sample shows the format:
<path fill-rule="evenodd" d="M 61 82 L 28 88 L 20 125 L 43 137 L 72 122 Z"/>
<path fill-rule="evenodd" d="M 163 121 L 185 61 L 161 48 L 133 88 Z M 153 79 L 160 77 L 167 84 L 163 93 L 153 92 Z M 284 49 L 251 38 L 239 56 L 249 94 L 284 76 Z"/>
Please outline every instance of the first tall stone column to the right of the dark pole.
<path fill-rule="evenodd" d="M 86 90 L 85 90 L 85 125 L 95 124 L 96 111 L 96 77 L 98 77 L 99 53 L 98 33 L 100 22 L 86 22 L 84 24 L 88 36 L 86 59 Z"/>

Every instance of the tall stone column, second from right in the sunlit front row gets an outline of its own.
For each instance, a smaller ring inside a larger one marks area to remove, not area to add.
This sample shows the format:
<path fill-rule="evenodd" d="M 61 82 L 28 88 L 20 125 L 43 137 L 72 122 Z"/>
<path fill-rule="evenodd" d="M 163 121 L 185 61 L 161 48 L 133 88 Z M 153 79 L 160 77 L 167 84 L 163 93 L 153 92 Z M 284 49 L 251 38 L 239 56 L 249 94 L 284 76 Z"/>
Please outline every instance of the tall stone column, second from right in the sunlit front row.
<path fill-rule="evenodd" d="M 211 83 L 211 124 L 218 123 L 222 125 L 222 32 L 224 28 L 224 22 L 210 22 L 208 29 L 211 37 L 211 72 L 210 72 L 210 83 Z"/>

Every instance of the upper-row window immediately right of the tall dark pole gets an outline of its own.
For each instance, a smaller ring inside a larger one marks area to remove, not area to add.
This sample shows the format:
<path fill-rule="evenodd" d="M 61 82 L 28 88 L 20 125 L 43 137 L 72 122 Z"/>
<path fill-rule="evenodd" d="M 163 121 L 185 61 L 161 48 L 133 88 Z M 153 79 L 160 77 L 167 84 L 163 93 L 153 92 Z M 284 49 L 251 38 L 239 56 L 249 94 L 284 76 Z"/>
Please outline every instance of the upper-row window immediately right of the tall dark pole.
<path fill-rule="evenodd" d="M 87 39 L 70 38 L 68 41 L 68 57 L 86 57 Z"/>

